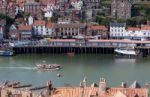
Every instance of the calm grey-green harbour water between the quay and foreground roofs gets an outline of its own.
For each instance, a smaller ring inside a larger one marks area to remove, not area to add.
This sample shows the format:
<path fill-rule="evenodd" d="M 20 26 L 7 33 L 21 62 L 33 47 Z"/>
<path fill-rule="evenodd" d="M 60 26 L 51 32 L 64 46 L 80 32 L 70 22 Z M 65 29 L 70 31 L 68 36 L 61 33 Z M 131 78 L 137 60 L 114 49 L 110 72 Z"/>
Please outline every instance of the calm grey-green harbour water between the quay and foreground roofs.
<path fill-rule="evenodd" d="M 39 71 L 37 63 L 60 64 L 58 71 Z M 58 78 L 57 74 L 62 77 Z M 45 85 L 52 80 L 54 86 L 75 86 L 86 76 L 88 84 L 98 83 L 106 78 L 109 86 L 119 86 L 121 82 L 130 85 L 137 80 L 144 85 L 150 81 L 150 57 L 139 59 L 116 58 L 114 55 L 76 54 L 22 54 L 0 57 L 0 82 L 21 81 L 34 86 Z"/>

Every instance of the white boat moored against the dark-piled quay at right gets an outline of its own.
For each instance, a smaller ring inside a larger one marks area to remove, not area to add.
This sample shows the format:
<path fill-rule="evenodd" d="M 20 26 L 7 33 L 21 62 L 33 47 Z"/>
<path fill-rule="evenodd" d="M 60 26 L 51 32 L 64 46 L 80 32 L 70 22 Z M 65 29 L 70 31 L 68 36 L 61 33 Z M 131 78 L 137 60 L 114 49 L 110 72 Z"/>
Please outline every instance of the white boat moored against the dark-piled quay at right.
<path fill-rule="evenodd" d="M 136 50 L 135 47 L 120 47 L 116 48 L 114 52 L 119 56 L 127 56 L 127 57 L 140 55 L 140 51 Z"/>

